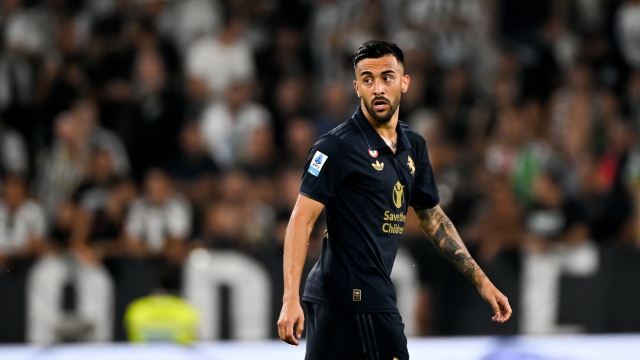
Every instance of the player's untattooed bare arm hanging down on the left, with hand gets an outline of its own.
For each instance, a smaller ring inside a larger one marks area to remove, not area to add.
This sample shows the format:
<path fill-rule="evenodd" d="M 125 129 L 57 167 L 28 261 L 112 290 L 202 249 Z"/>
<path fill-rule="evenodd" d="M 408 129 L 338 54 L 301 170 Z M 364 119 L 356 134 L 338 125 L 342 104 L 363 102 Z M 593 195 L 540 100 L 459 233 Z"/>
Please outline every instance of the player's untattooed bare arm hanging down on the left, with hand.
<path fill-rule="evenodd" d="M 322 203 L 299 195 L 284 237 L 284 296 L 278 319 L 278 334 L 280 339 L 292 345 L 298 345 L 296 337 L 300 338 L 304 330 L 304 313 L 300 306 L 300 278 L 307 257 L 309 236 L 323 208 Z"/>

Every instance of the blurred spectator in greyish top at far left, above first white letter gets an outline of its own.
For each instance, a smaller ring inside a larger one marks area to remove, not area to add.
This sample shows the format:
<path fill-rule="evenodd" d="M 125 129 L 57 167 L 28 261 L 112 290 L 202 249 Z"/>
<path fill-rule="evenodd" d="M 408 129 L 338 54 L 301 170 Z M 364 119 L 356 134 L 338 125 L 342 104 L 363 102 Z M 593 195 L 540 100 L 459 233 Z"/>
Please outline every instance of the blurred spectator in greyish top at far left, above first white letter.
<path fill-rule="evenodd" d="M 84 179 L 90 155 L 86 130 L 75 114 L 60 114 L 55 141 L 38 159 L 34 189 L 49 219 Z"/>

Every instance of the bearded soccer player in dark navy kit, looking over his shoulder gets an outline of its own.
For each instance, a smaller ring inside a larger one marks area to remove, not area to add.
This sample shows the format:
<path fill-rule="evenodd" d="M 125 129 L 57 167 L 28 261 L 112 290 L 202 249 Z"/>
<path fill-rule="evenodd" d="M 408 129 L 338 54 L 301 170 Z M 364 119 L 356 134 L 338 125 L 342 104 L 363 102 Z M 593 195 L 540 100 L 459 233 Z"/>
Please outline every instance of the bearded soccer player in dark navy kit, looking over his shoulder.
<path fill-rule="evenodd" d="M 409 206 L 431 242 L 491 304 L 511 316 L 442 211 L 424 138 L 398 120 L 410 78 L 395 44 L 368 41 L 353 59 L 360 108 L 312 147 L 284 245 L 278 333 L 298 345 L 304 329 L 299 288 L 309 235 L 326 209 L 322 253 L 306 282 L 306 360 L 409 359 L 391 268 Z"/>

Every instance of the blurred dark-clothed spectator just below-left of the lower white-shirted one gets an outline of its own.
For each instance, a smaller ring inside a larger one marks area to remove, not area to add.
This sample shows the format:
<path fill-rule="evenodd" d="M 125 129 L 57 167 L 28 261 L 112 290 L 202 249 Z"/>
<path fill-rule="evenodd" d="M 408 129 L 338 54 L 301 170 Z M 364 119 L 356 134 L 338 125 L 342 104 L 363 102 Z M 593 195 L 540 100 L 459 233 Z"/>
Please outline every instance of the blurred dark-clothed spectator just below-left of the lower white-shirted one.
<path fill-rule="evenodd" d="M 200 126 L 187 122 L 180 131 L 180 152 L 169 172 L 176 189 L 192 203 L 201 204 L 211 198 L 220 168 L 207 153 Z"/>

